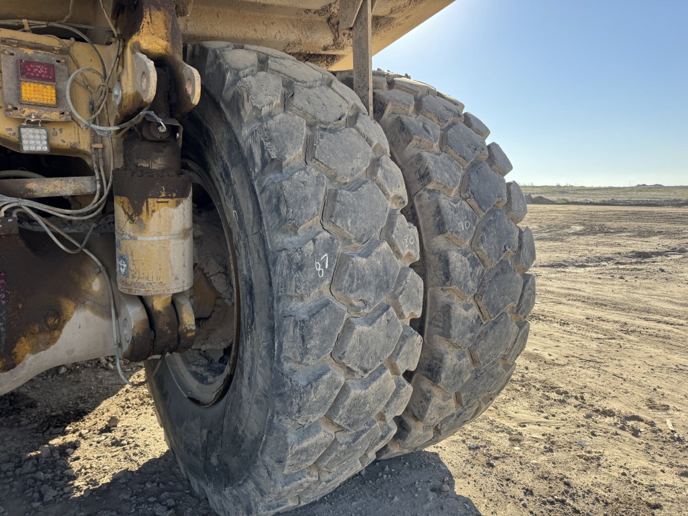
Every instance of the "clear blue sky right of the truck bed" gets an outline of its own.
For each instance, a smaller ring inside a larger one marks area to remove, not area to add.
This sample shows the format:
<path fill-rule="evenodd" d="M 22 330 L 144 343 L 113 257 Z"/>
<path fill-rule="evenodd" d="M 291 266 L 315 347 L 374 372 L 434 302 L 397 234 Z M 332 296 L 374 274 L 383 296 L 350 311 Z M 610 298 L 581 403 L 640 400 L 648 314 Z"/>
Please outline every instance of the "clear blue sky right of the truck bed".
<path fill-rule="evenodd" d="M 688 184 L 688 1 L 456 0 L 373 67 L 461 100 L 520 184 Z"/>

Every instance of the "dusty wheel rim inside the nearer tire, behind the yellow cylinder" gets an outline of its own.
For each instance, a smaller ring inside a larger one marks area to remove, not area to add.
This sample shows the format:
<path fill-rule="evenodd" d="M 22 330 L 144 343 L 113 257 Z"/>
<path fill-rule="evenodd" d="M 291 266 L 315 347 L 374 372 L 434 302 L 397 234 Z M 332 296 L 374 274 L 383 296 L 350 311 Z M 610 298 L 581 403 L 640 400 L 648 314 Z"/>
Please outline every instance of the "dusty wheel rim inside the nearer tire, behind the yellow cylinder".
<path fill-rule="evenodd" d="M 215 184 L 195 162 L 184 161 L 193 182 L 196 338 L 190 350 L 166 358 L 177 387 L 202 407 L 222 400 L 239 356 L 240 303 L 236 254 Z"/>

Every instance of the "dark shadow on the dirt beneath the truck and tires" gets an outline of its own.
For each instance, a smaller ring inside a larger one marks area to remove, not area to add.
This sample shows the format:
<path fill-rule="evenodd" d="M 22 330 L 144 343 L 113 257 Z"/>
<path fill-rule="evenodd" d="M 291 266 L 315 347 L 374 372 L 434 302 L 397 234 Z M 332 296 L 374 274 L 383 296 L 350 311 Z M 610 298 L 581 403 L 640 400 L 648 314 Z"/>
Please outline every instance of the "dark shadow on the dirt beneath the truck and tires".
<path fill-rule="evenodd" d="M 103 462 L 94 454 L 113 449 L 81 449 L 80 441 L 124 439 L 121 427 L 110 433 L 107 427 L 92 426 L 84 437 L 70 425 L 76 422 L 78 427 L 82 418 L 100 411 L 107 398 L 114 396 L 122 407 L 131 402 L 128 396 L 140 395 L 122 390 L 120 378 L 105 367 L 107 363 L 93 362 L 72 364 L 62 374 L 59 368 L 50 369 L 0 396 L 0 516 L 213 516 L 205 497 L 191 490 L 170 451 L 131 471 L 97 470 Z M 127 376 L 138 369 L 133 367 Z M 147 405 L 143 402 L 138 411 L 120 417 L 131 424 L 141 411 L 152 410 Z M 157 439 L 159 434 L 144 431 L 143 436 Z M 65 435 L 69 435 L 66 442 L 48 445 Z M 104 476 L 110 480 L 101 484 Z M 283 514 L 480 516 L 471 499 L 454 489 L 451 472 L 438 453 L 420 451 L 376 461 L 325 497 Z"/>

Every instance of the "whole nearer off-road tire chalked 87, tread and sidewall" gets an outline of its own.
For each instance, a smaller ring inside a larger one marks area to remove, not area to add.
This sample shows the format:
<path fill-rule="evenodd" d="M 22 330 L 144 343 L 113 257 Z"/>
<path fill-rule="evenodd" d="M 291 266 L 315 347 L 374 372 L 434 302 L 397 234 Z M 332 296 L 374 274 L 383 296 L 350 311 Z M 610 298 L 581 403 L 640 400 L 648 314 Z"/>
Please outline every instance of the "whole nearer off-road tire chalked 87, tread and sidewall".
<path fill-rule="evenodd" d="M 227 214 L 238 356 L 208 406 L 178 387 L 174 356 L 150 390 L 194 490 L 220 514 L 269 515 L 332 491 L 396 433 L 421 345 L 418 233 L 382 129 L 334 76 L 263 47 L 185 52 L 203 94 L 182 151 Z"/>

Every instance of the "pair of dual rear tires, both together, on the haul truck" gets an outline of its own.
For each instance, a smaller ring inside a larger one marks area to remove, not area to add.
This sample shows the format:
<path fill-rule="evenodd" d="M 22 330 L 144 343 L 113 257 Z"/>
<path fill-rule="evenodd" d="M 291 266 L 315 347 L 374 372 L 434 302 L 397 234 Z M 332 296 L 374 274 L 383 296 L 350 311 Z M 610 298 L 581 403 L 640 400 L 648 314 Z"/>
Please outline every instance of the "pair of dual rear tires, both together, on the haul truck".
<path fill-rule="evenodd" d="M 378 124 L 282 52 L 199 43 L 186 61 L 204 94 L 182 152 L 233 244 L 237 360 L 212 402 L 172 363 L 149 388 L 195 491 L 269 515 L 491 403 L 528 334 L 532 235 L 506 157 L 427 85 L 376 74 Z"/>

